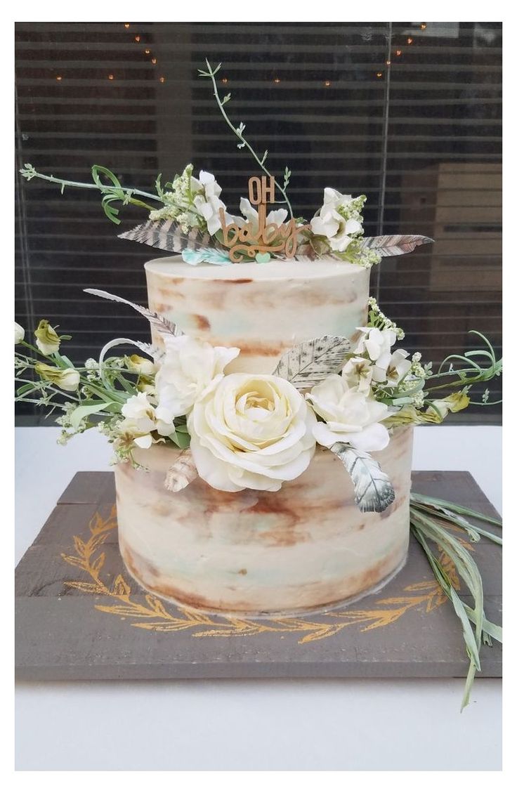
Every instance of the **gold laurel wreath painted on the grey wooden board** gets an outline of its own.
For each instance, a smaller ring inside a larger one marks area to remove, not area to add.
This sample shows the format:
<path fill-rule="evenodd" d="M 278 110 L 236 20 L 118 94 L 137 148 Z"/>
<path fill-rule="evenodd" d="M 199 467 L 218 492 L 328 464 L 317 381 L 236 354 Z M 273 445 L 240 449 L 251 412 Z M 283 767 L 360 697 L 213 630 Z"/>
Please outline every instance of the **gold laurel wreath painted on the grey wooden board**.
<path fill-rule="evenodd" d="M 98 512 L 90 520 L 90 537 L 85 541 L 75 536 L 74 545 L 77 556 L 61 554 L 69 565 L 82 569 L 90 577 L 89 581 L 65 581 L 65 585 L 90 595 L 103 595 L 113 598 L 115 603 L 95 605 L 98 611 L 117 615 L 121 619 L 135 620 L 133 627 L 145 630 L 178 631 L 191 630 L 192 636 L 226 637 L 255 636 L 257 634 L 293 633 L 301 634 L 299 643 L 316 642 L 334 636 L 347 626 L 360 626 L 360 630 L 374 630 L 396 623 L 411 609 L 422 607 L 426 612 L 442 606 L 447 597 L 437 580 L 423 580 L 404 587 L 398 597 L 381 598 L 375 602 L 373 609 L 347 609 L 346 611 L 328 611 L 324 619 L 332 622 L 315 622 L 303 618 L 282 617 L 272 619 L 241 619 L 230 615 L 208 615 L 188 607 L 174 606 L 163 603 L 153 596 L 145 595 L 147 606 L 134 599 L 131 587 L 122 575 L 117 575 L 112 584 L 108 585 L 101 578 L 105 563 L 105 554 L 101 547 L 109 535 L 117 528 L 117 511 L 115 505 L 107 518 Z M 465 542 L 465 546 L 470 547 Z M 442 552 L 440 563 L 446 570 L 455 589 L 459 588 L 458 573 L 450 558 Z M 334 621 L 337 620 L 337 621 Z"/>

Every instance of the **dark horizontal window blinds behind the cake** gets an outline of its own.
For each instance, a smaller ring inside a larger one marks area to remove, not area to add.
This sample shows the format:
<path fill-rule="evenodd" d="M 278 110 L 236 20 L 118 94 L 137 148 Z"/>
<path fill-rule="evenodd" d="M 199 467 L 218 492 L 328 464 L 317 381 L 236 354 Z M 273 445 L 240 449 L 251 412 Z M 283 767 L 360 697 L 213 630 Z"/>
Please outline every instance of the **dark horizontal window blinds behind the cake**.
<path fill-rule="evenodd" d="M 152 190 L 192 162 L 237 213 L 255 166 L 197 77 L 208 57 L 232 119 L 271 170 L 293 171 L 297 213 L 333 186 L 366 193 L 367 235 L 435 239 L 372 271 L 407 349 L 437 363 L 478 329 L 500 351 L 501 36 L 492 22 L 19 23 L 17 166 L 90 181 L 97 163 Z M 131 309 L 82 293 L 146 301 L 143 264 L 161 253 L 117 239 L 143 214 L 124 208 L 115 227 L 93 190 L 17 186 L 17 321 L 71 333 L 78 362 L 115 335 L 147 339 Z M 500 405 L 454 418 L 498 421 Z"/>

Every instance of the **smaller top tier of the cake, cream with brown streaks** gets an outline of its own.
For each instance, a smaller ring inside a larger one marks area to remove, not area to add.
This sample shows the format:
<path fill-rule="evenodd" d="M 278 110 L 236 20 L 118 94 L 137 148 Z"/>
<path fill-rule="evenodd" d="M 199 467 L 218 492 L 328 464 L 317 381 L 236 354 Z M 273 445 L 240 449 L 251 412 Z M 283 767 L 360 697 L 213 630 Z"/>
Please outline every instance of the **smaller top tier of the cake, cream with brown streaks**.
<path fill-rule="evenodd" d="M 151 310 L 214 346 L 239 347 L 227 371 L 270 374 L 305 339 L 353 339 L 366 324 L 370 270 L 346 262 L 191 266 L 167 256 L 145 270 Z"/>

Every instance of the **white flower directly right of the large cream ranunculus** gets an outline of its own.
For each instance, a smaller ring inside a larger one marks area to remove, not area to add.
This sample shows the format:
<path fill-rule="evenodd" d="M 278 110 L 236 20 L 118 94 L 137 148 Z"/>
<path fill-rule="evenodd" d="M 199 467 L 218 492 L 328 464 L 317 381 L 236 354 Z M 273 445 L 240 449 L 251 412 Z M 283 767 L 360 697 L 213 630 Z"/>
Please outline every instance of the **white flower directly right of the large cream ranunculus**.
<path fill-rule="evenodd" d="M 315 385 L 306 398 L 326 422 L 314 427 L 314 437 L 321 446 L 330 448 L 339 441 L 361 451 L 388 446 L 388 430 L 379 423 L 388 416 L 388 407 L 359 391 L 358 386 L 350 388 L 343 376 L 331 374 Z"/>

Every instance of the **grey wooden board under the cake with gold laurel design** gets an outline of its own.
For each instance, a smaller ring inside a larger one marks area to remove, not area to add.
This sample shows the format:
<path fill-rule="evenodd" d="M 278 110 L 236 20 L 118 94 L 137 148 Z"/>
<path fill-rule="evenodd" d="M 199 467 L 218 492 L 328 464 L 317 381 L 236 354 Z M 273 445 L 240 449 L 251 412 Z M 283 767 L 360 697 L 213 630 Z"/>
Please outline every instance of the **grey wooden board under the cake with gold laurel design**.
<path fill-rule="evenodd" d="M 496 515 L 464 471 L 413 473 L 413 490 Z M 114 503 L 113 473 L 77 473 L 17 566 L 19 680 L 451 677 L 467 671 L 458 618 L 413 538 L 404 569 L 381 592 L 348 607 L 286 619 L 207 615 L 149 596 L 132 580 L 118 552 Z M 481 538 L 473 554 L 485 613 L 500 624 L 500 546 Z M 483 646 L 481 676 L 500 677 L 501 660 L 498 642 Z"/>

